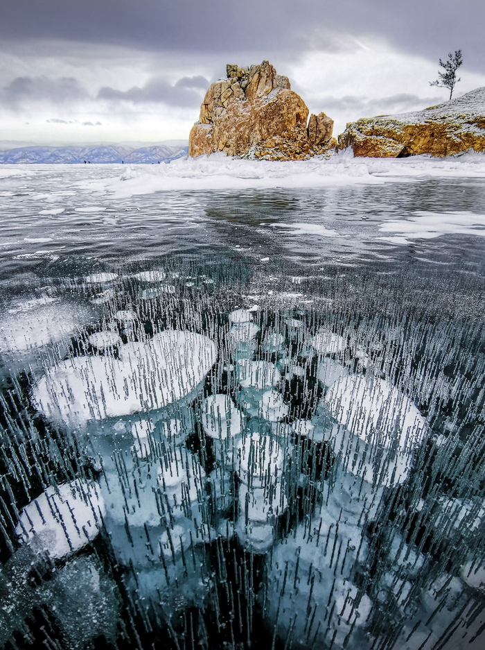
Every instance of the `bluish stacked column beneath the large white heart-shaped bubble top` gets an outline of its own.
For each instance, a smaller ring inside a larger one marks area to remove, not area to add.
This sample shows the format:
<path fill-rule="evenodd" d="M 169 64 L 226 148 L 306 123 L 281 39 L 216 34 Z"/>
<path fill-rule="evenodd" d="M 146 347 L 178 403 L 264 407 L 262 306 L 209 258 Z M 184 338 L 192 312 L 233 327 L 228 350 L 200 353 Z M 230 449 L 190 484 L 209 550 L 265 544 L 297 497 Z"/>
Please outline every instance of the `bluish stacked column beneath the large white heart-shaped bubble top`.
<path fill-rule="evenodd" d="M 153 418 L 156 420 L 156 418 Z M 93 446 L 103 458 L 105 528 L 125 585 L 147 609 L 193 604 L 206 589 L 201 573 L 210 530 L 206 477 L 181 444 L 177 420 L 119 420 Z M 106 427 L 105 427 L 106 428 Z M 170 434 L 171 438 L 168 438 Z M 179 594 L 175 603 L 173 592 Z"/>

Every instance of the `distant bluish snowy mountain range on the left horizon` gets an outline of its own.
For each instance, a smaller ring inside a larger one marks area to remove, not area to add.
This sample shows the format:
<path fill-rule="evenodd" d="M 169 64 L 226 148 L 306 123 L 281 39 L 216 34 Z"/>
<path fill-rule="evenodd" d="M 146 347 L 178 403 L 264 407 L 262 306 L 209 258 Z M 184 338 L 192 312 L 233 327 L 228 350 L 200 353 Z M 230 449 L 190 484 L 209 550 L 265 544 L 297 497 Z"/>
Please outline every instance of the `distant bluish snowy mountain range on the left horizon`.
<path fill-rule="evenodd" d="M 135 148 L 108 146 L 23 146 L 0 151 L 0 164 L 82 164 L 170 162 L 183 157 L 187 147 L 164 144 Z"/>

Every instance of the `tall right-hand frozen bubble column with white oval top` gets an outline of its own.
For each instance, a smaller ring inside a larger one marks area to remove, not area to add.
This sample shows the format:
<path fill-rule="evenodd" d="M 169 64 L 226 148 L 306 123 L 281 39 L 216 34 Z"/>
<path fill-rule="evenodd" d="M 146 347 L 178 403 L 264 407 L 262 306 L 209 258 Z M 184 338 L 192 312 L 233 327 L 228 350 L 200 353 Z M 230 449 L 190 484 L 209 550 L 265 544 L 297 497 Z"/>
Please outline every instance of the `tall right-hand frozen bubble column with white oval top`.
<path fill-rule="evenodd" d="M 323 339 L 319 344 L 342 344 Z M 337 379 L 319 411 L 321 417 L 330 411 L 333 426 L 319 430 L 316 418 L 293 427 L 299 436 L 323 439 L 335 461 L 321 483 L 319 513 L 274 548 L 263 607 L 275 638 L 292 647 L 346 647 L 352 638 L 352 647 L 365 649 L 373 603 L 362 579 L 364 524 L 385 487 L 406 479 L 425 425 L 414 404 L 384 380 L 328 370 Z"/>

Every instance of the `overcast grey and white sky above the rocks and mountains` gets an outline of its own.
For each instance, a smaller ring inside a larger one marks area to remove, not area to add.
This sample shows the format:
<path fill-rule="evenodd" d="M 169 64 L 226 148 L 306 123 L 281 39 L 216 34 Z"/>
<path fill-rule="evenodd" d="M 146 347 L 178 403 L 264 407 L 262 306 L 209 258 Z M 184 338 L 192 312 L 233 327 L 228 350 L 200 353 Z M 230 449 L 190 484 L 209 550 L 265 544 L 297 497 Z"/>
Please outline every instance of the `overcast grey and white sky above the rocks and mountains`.
<path fill-rule="evenodd" d="M 226 63 L 270 60 L 312 112 L 347 121 L 485 85 L 483 0 L 11 0 L 0 17 L 0 141 L 187 139 Z"/>

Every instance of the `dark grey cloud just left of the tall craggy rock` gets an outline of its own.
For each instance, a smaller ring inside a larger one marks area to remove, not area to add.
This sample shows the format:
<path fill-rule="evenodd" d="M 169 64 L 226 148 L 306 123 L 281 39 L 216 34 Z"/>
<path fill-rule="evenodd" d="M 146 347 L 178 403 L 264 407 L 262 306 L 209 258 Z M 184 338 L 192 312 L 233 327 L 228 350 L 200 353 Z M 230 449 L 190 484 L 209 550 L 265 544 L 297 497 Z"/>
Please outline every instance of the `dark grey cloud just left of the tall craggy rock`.
<path fill-rule="evenodd" d="M 134 86 L 128 90 L 116 90 L 116 88 L 103 86 L 98 92 L 97 99 L 130 101 L 134 104 L 164 103 L 170 106 L 193 107 L 200 103 L 202 89 L 209 85 L 204 77 L 192 77 L 193 79 L 196 80 L 195 85 L 188 85 L 188 83 L 194 84 L 194 82 L 191 82 L 191 78 L 184 77 L 179 79 L 175 85 L 170 85 L 161 78 L 153 78 L 143 87 Z M 204 79 L 204 85 L 197 82 L 200 79 Z M 200 88 L 200 90 L 195 88 Z"/>

